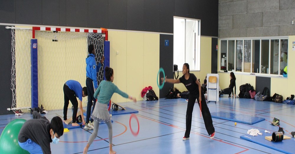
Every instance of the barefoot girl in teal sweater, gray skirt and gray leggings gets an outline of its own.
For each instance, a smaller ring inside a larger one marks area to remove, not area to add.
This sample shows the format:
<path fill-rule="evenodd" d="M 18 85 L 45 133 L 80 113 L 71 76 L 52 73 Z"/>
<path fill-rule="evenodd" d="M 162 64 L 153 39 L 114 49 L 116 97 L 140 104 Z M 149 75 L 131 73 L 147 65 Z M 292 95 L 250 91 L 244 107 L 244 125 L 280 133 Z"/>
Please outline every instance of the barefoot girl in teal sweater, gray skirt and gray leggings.
<path fill-rule="evenodd" d="M 86 154 L 89 146 L 94 141 L 97 136 L 98 128 L 99 128 L 99 120 L 105 121 L 109 128 L 109 146 L 110 146 L 110 154 L 115 154 L 116 151 L 112 149 L 112 140 L 113 140 L 113 129 L 112 122 L 109 111 L 107 109 L 107 105 L 114 93 L 118 93 L 122 97 L 132 99 L 136 102 L 136 98 L 132 97 L 124 92 L 122 92 L 114 83 L 114 70 L 110 67 L 105 68 L 105 76 L 106 80 L 103 80 L 96 92 L 94 93 L 94 98 L 97 99 L 96 105 L 92 112 L 91 118 L 94 119 L 94 129 L 91 134 L 86 147 L 84 148 L 83 154 Z"/>

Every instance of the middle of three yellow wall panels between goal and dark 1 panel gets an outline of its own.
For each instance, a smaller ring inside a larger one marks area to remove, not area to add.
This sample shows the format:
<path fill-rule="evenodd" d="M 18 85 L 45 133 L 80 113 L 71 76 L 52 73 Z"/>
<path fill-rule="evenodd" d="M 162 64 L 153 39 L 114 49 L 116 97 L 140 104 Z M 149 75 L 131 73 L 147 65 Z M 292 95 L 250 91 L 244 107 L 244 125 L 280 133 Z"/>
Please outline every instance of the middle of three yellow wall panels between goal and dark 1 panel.
<path fill-rule="evenodd" d="M 144 88 L 143 47 L 143 33 L 127 33 L 127 94 L 136 97 L 137 100 L 142 100 L 140 93 Z"/>

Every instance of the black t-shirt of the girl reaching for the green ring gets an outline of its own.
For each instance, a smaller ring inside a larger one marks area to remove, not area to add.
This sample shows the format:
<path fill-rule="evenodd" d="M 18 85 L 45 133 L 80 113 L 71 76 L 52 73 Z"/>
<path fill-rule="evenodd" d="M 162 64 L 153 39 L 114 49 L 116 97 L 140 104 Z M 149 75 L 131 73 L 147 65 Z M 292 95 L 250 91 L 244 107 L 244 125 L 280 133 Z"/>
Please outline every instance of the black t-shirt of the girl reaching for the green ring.
<path fill-rule="evenodd" d="M 197 77 L 194 74 L 189 73 L 189 79 L 185 79 L 183 75 L 179 80 L 184 84 L 190 94 L 199 95 L 199 86 L 196 84 Z"/>

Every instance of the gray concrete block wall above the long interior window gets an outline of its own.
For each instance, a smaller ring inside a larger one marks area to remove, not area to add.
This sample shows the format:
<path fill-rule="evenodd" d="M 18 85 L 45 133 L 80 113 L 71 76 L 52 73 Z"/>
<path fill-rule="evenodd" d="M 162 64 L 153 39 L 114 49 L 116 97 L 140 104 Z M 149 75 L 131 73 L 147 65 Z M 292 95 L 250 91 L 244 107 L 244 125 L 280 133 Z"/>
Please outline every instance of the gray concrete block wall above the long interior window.
<path fill-rule="evenodd" d="M 295 35 L 294 0 L 219 0 L 219 38 Z"/>

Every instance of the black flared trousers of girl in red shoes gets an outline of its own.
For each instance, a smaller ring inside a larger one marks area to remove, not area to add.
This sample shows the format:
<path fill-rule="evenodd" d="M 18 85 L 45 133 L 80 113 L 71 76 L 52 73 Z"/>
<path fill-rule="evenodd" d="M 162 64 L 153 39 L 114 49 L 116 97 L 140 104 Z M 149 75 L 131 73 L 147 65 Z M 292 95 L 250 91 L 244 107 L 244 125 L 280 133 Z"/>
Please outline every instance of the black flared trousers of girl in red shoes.
<path fill-rule="evenodd" d="M 214 126 L 213 126 L 213 121 L 212 121 L 212 117 L 209 111 L 209 108 L 207 106 L 206 100 L 205 100 L 205 96 L 204 93 L 201 92 L 201 98 L 202 98 L 202 116 L 204 119 L 204 123 L 205 123 L 205 127 L 206 130 L 208 132 L 208 135 L 211 135 L 212 133 L 215 132 Z M 192 116 L 193 116 L 193 109 L 194 109 L 194 104 L 195 101 L 198 101 L 198 104 L 200 106 L 199 103 L 199 94 L 197 95 L 193 95 L 193 94 L 189 94 L 189 101 L 187 103 L 187 109 L 186 109 L 186 131 L 184 134 L 184 137 L 189 138 L 189 134 L 191 133 L 191 120 L 192 120 Z"/>

